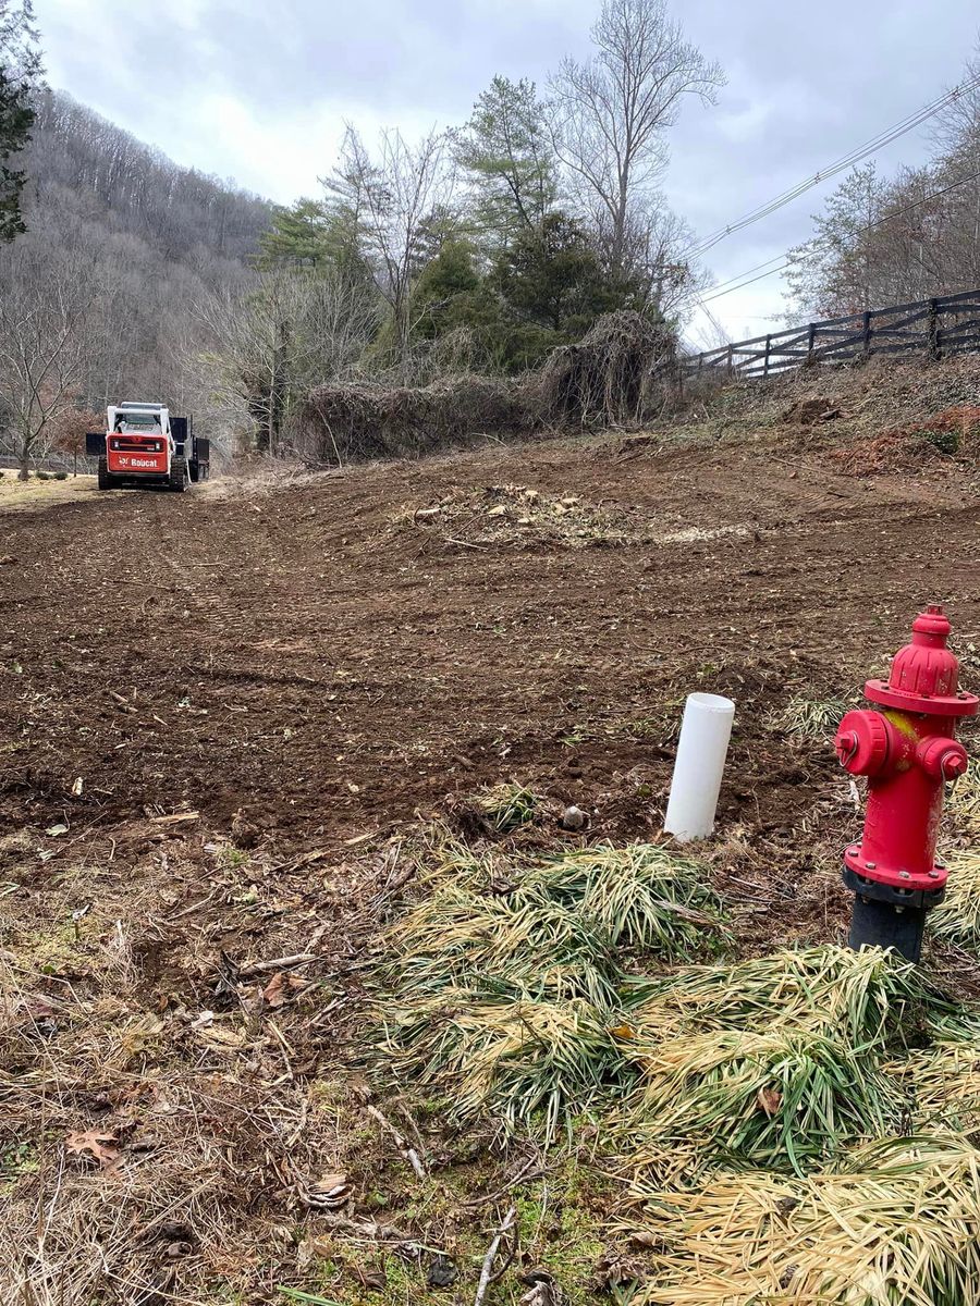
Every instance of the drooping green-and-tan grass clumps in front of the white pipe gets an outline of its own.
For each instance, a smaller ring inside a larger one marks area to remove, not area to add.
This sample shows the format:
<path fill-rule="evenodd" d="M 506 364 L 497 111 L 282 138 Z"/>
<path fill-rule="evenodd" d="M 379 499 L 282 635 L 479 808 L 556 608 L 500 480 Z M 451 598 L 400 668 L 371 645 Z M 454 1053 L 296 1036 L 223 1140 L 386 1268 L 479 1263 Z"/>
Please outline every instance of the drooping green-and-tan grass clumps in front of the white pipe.
<path fill-rule="evenodd" d="M 631 1077 L 613 1033 L 627 1028 L 630 955 L 716 943 L 719 902 L 698 862 L 649 844 L 507 863 L 452 841 L 434 854 L 431 895 L 388 935 L 385 1050 L 453 1118 L 514 1130 L 538 1115 L 550 1140 Z"/>

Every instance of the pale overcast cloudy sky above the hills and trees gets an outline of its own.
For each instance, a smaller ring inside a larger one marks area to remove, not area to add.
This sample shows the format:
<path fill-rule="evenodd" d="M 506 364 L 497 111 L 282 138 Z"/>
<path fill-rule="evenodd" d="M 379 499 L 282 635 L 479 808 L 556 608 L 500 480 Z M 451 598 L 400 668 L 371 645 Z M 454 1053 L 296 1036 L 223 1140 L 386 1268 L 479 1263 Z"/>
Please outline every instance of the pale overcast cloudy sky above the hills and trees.
<path fill-rule="evenodd" d="M 35 0 L 48 78 L 186 166 L 281 202 L 319 193 L 345 119 L 366 137 L 465 121 L 495 73 L 544 84 L 588 54 L 600 0 Z M 674 0 L 728 86 L 686 107 L 666 193 L 725 226 L 955 85 L 977 0 Z M 920 162 L 920 129 L 878 158 Z M 834 183 L 710 255 L 719 282 L 805 239 Z M 779 326 L 781 278 L 711 303 L 733 337 Z M 707 338 L 702 317 L 694 336 Z"/>

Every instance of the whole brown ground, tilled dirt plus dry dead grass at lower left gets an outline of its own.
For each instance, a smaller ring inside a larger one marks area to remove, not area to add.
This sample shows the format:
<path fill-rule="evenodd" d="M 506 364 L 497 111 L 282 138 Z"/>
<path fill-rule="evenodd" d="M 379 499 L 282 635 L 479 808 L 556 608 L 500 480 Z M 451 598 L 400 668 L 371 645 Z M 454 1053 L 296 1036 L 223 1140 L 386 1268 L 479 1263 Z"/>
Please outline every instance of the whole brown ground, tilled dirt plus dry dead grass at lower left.
<path fill-rule="evenodd" d="M 542 840 L 655 838 L 693 690 L 738 705 L 707 855 L 741 947 L 840 936 L 860 814 L 780 713 L 856 693 L 934 601 L 975 687 L 976 461 L 689 434 L 0 500 L 4 1301 L 472 1301 L 497 1208 L 453 1199 L 465 1147 L 422 1200 L 337 1088 L 401 841 L 507 780 L 589 814 Z M 308 1200 L 331 1171 L 354 1254 Z M 382 1216 L 456 1288 L 385 1271 Z"/>

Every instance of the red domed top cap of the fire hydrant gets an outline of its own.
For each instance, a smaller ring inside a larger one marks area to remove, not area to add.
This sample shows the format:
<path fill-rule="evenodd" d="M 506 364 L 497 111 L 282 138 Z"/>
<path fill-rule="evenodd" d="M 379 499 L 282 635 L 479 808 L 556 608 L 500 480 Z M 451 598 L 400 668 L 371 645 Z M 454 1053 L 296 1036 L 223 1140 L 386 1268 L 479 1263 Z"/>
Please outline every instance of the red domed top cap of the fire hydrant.
<path fill-rule="evenodd" d="M 941 603 L 932 603 L 912 622 L 912 639 L 891 660 L 885 680 L 868 680 L 872 703 L 929 716 L 968 717 L 980 700 L 959 688 L 959 658 L 946 648 L 951 631 Z"/>

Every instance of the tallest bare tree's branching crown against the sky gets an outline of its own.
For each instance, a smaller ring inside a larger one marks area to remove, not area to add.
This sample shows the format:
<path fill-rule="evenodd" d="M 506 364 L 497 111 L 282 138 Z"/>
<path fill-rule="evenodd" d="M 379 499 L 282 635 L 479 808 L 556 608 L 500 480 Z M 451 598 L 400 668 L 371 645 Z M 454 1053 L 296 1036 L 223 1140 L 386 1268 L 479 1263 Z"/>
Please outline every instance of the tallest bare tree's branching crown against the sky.
<path fill-rule="evenodd" d="M 687 95 L 713 103 L 725 78 L 685 39 L 666 0 L 605 0 L 592 40 L 595 56 L 562 60 L 551 81 L 553 132 L 587 210 L 608 226 L 610 266 L 623 272 L 630 226 L 656 208 L 666 128 Z"/>

